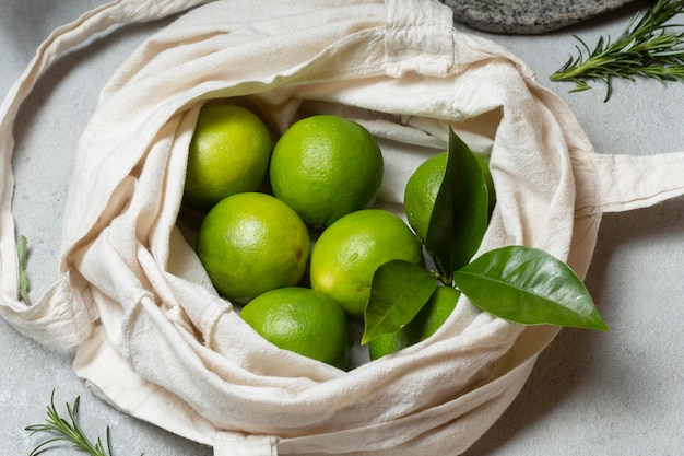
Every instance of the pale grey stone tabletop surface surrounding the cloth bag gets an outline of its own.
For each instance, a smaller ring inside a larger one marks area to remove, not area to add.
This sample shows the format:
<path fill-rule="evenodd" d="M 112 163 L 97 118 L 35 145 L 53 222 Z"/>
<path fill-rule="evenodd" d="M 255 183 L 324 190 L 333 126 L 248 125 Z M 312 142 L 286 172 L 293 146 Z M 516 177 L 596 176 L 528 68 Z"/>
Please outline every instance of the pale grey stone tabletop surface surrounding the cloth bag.
<path fill-rule="evenodd" d="M 55 27 L 105 0 L 0 1 L 0 98 Z M 474 32 L 509 48 L 573 109 L 601 153 L 684 150 L 684 83 L 616 81 L 569 93 L 549 74 L 588 44 L 618 34 L 630 15 L 605 14 L 581 28 L 545 35 Z M 120 62 L 164 22 L 109 31 L 64 56 L 22 108 L 13 159 L 17 232 L 32 247 L 32 297 L 58 277 L 61 210 L 79 132 L 97 94 Z M 684 169 L 682 172 L 684 175 Z M 465 456 L 684 455 L 684 199 L 632 213 L 606 214 L 587 285 L 611 331 L 564 329 L 541 354 L 530 379 L 502 419 Z M 62 407 L 82 396 L 90 435 L 111 426 L 114 454 L 211 456 L 194 444 L 140 422 L 98 400 L 76 378 L 73 352 L 39 346 L 0 318 L 0 448 L 27 455 L 37 443 L 23 429 L 45 418 L 56 388 Z M 62 408 L 63 410 L 63 408 Z M 50 456 L 74 456 L 61 447 Z M 453 456 L 453 455 L 440 455 Z"/>

